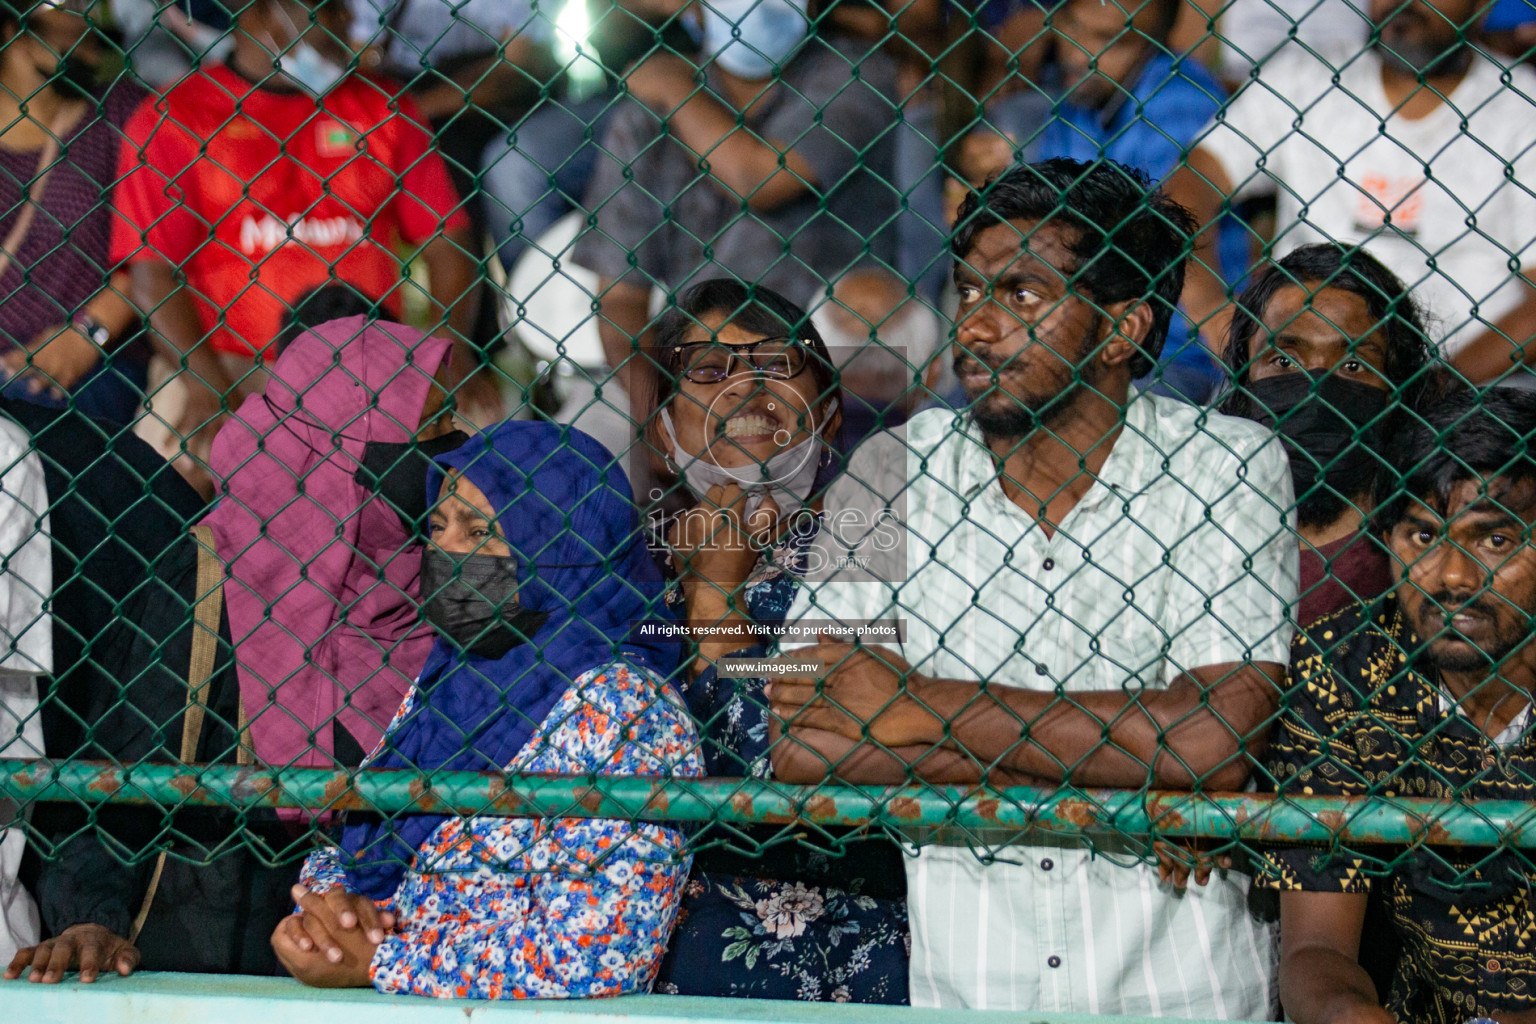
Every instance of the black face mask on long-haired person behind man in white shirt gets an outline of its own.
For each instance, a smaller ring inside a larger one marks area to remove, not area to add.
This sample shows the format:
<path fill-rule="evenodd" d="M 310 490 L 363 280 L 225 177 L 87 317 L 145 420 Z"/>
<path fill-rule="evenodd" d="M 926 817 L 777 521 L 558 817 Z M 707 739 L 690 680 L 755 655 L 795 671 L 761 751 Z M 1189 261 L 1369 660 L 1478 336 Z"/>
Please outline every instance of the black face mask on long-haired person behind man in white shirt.
<path fill-rule="evenodd" d="M 1250 381 L 1247 393 L 1253 419 L 1286 444 L 1298 500 L 1306 502 L 1319 479 L 1355 497 L 1375 477 L 1387 391 L 1309 370 Z"/>

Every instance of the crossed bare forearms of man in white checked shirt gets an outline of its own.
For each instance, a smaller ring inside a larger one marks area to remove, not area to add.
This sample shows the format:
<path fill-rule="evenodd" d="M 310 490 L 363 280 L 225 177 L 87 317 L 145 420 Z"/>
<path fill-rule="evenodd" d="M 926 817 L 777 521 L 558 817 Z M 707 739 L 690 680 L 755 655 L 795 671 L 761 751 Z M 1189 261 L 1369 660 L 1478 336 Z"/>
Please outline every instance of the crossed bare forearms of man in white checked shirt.
<path fill-rule="evenodd" d="M 788 735 L 774 774 L 793 783 L 1238 789 L 1263 754 L 1284 666 L 1195 668 L 1166 689 L 1028 691 L 915 672 L 888 648 L 822 642 L 788 656 L 805 677 L 768 686 Z M 820 683 L 816 680 L 822 679 Z"/>

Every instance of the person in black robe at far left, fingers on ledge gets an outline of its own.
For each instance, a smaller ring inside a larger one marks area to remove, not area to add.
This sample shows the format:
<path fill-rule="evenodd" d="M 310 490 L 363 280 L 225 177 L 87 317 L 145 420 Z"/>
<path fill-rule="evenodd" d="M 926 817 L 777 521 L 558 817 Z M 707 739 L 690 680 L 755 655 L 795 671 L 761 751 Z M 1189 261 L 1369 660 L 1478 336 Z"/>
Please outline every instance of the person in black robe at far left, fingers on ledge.
<path fill-rule="evenodd" d="M 104 421 L 0 399 L 31 436 L 49 499 L 54 676 L 41 699 L 51 760 L 175 761 L 187 703 L 203 500 L 154 448 Z M 233 761 L 238 688 L 221 623 L 198 761 Z M 355 746 L 355 745 L 353 745 Z M 361 760 L 361 751 L 355 751 Z M 169 826 L 169 827 L 167 827 Z M 237 835 L 246 829 L 244 835 Z M 37 803 L 22 881 L 46 938 L 8 978 L 65 969 L 273 973 L 267 944 L 289 910 L 289 863 L 304 849 L 272 812 Z M 174 837 L 137 943 L 157 852 Z M 238 849 L 233 849 L 237 847 Z M 293 852 L 284 857 L 287 847 Z M 58 955 L 58 963 L 49 958 Z M 91 967 L 94 964 L 94 967 Z"/>

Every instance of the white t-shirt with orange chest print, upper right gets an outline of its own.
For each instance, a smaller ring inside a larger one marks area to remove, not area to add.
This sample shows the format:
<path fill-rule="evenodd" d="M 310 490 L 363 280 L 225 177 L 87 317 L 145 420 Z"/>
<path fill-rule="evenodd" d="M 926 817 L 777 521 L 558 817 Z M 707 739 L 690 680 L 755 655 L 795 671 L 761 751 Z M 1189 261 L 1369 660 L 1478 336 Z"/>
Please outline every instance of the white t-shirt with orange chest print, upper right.
<path fill-rule="evenodd" d="M 1528 293 L 1511 263 L 1536 267 L 1536 72 L 1476 57 L 1419 120 L 1392 114 L 1376 54 L 1333 77 L 1307 54 L 1276 58 L 1198 146 L 1240 197 L 1278 190 L 1276 258 L 1369 243 L 1453 355 Z"/>

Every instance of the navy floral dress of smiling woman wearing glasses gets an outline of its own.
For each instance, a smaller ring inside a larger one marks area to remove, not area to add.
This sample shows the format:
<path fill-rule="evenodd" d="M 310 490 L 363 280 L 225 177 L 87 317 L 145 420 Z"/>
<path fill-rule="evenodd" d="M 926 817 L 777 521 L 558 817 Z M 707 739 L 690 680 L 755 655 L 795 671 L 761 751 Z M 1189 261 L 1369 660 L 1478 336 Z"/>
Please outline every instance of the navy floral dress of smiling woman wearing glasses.
<path fill-rule="evenodd" d="M 783 622 L 819 530 L 799 519 L 759 559 L 743 588 L 754 622 Z M 679 586 L 667 600 L 682 611 Z M 756 645 L 737 657 L 763 654 Z M 708 775 L 771 775 L 765 682 L 684 674 Z M 716 826 L 696 840 L 656 992 L 905 1004 L 909 953 L 902 852 L 883 832 Z"/>

